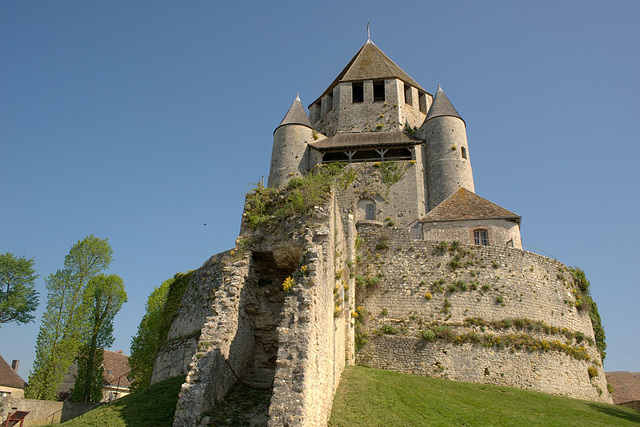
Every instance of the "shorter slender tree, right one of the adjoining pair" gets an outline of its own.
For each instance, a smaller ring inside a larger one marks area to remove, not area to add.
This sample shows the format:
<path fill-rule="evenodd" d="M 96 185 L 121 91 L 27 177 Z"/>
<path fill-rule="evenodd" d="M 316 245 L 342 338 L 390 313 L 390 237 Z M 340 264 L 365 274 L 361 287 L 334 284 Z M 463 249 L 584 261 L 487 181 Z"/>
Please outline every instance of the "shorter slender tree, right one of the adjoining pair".
<path fill-rule="evenodd" d="M 89 328 L 76 358 L 78 373 L 71 400 L 99 402 L 102 399 L 103 349 L 113 344 L 113 319 L 125 302 L 124 283 L 115 274 L 100 274 L 89 281 L 84 295 Z"/>

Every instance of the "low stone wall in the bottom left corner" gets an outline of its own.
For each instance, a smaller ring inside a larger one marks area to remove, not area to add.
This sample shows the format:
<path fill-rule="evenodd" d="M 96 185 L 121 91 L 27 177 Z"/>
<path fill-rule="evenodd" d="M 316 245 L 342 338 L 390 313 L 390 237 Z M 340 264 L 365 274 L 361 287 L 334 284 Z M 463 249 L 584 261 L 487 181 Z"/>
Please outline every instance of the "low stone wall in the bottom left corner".
<path fill-rule="evenodd" d="M 0 423 L 16 410 L 29 412 L 24 419 L 24 427 L 49 425 L 52 422 L 61 423 L 78 417 L 97 406 L 100 404 L 0 397 Z"/>

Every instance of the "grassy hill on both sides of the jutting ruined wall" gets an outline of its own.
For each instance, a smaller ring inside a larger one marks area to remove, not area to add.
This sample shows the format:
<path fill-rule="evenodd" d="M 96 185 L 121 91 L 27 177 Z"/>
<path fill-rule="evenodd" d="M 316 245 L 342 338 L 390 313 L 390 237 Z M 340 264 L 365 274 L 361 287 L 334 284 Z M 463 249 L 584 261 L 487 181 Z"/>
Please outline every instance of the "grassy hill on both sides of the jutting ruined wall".
<path fill-rule="evenodd" d="M 171 426 L 183 381 L 184 377 L 177 377 L 154 384 L 63 426 Z M 244 394 L 234 396 L 233 400 L 253 399 Z M 211 415 L 217 422 L 231 420 L 231 424 L 220 425 L 241 425 L 233 422 L 240 418 L 229 413 L 224 402 L 216 409 Z M 640 412 L 620 406 L 363 367 L 345 370 L 329 421 L 334 427 L 638 424 Z"/>

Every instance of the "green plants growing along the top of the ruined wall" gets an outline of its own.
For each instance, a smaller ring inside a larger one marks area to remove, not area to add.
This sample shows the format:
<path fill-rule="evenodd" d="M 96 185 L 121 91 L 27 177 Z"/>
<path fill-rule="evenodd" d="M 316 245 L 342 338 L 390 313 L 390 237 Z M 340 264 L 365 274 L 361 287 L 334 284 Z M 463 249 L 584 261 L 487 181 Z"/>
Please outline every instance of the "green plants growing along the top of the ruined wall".
<path fill-rule="evenodd" d="M 245 215 L 249 226 L 258 228 L 322 204 L 332 187 L 345 189 L 355 180 L 356 171 L 346 166 L 321 165 L 302 178 L 292 178 L 284 189 L 258 184 L 247 194 Z"/>

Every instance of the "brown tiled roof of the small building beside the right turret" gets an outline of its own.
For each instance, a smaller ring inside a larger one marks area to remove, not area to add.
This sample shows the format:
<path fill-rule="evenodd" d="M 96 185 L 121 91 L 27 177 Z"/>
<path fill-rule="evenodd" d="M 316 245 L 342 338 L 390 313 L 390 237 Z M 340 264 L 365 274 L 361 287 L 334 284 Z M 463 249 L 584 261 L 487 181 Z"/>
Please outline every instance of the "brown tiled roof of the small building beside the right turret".
<path fill-rule="evenodd" d="M 478 196 L 466 188 L 459 188 L 433 208 L 421 221 L 459 221 L 470 219 L 507 219 L 520 223 L 520 216 Z"/>

